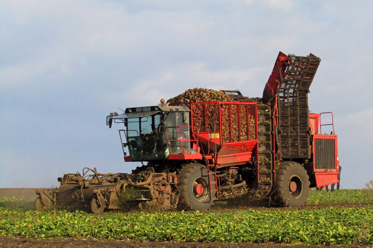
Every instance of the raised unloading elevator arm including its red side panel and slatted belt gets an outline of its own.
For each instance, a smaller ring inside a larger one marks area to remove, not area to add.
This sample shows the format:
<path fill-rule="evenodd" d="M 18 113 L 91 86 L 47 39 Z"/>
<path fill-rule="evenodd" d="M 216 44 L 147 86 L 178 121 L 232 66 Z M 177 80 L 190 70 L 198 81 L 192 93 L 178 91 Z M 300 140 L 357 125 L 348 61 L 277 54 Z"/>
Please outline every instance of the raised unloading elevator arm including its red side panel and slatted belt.
<path fill-rule="evenodd" d="M 308 92 L 320 64 L 307 57 L 279 53 L 263 91 L 263 103 L 276 115 L 276 139 L 283 159 L 310 157 Z"/>

